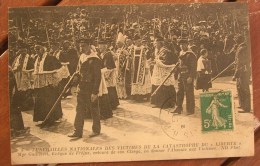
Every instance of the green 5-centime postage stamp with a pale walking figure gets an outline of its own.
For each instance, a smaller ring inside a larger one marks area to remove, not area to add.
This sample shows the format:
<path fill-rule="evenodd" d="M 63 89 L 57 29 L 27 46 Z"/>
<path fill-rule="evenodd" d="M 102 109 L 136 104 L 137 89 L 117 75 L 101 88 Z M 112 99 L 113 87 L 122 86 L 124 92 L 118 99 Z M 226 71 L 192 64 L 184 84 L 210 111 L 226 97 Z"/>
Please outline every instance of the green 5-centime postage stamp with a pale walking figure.
<path fill-rule="evenodd" d="M 234 129 L 233 96 L 231 91 L 200 94 L 202 131 Z"/>

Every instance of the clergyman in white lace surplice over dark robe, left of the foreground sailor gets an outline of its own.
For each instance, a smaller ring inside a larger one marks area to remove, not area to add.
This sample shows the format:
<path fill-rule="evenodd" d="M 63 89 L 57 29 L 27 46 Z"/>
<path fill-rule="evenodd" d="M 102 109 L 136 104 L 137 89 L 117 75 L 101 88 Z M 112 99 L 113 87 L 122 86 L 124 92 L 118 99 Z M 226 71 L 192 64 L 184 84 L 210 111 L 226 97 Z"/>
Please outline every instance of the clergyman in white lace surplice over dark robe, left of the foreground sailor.
<path fill-rule="evenodd" d="M 44 121 L 54 103 L 59 97 L 59 83 L 61 81 L 60 69 L 61 63 L 54 56 L 46 52 L 46 43 L 38 42 L 35 46 L 37 54 L 34 63 L 34 92 L 35 105 L 33 121 Z M 50 114 L 49 119 L 44 124 L 39 124 L 40 127 L 54 124 L 56 120 L 62 118 L 61 101 Z"/>

